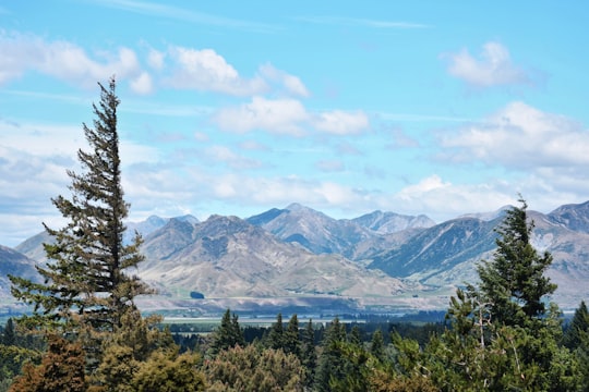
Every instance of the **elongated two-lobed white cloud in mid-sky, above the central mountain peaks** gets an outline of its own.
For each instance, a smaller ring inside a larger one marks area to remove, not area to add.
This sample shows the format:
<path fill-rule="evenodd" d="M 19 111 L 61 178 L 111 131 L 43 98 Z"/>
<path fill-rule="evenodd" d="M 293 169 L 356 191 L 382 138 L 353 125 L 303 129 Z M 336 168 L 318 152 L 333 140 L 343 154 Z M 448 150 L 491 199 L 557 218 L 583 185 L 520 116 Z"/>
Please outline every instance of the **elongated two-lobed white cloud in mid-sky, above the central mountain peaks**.
<path fill-rule="evenodd" d="M 353 135 L 365 131 L 368 117 L 362 111 L 325 111 L 312 114 L 296 99 L 253 97 L 250 103 L 220 110 L 214 121 L 221 130 L 245 133 L 265 130 L 271 133 L 301 136 L 311 127 L 334 135 Z"/>

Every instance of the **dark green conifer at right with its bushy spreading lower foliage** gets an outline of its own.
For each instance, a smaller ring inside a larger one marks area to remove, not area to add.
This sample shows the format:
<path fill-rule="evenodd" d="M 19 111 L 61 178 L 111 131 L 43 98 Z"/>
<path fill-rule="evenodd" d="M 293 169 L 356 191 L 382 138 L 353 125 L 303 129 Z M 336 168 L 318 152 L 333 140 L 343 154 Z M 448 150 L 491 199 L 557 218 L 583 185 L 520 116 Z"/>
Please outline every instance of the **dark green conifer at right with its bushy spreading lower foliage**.
<path fill-rule="evenodd" d="M 552 257 L 538 256 L 531 246 L 532 224 L 521 203 L 498 230 L 494 260 L 479 268 L 479 287 L 468 285 L 452 297 L 449 328 L 423 351 L 395 338 L 405 378 L 417 373 L 442 391 L 579 389 L 577 360 L 557 345 L 560 311 L 543 302 L 555 290 L 543 275 Z"/>

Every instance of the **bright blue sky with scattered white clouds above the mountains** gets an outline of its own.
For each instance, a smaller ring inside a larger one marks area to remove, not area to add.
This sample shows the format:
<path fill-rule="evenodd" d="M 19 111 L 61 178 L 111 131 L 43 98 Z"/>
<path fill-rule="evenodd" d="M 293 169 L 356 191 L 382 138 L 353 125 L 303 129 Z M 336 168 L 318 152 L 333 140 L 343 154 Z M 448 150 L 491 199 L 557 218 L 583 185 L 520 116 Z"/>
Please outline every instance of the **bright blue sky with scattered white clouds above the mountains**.
<path fill-rule="evenodd" d="M 587 1 L 0 1 L 0 244 L 117 81 L 129 220 L 589 199 Z"/>

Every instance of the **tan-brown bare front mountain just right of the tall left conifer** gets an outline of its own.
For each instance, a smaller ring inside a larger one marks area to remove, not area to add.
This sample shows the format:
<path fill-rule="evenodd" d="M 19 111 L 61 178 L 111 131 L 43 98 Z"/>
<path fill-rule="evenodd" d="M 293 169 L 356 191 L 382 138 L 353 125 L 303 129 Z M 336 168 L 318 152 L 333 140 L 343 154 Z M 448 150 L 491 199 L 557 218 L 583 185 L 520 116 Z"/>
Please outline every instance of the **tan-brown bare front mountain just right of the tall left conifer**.
<path fill-rule="evenodd" d="M 208 297 L 393 296 L 410 284 L 339 255 L 315 255 L 237 217 L 171 219 L 145 238 L 140 275 L 167 292 Z"/>

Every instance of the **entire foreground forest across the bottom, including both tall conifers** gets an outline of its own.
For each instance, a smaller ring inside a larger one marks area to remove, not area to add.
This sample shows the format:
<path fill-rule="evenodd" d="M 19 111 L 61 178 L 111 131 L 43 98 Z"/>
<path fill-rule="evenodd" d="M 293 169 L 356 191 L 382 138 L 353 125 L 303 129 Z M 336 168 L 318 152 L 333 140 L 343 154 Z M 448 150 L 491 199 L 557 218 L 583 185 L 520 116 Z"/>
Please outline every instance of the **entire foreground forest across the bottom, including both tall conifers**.
<path fill-rule="evenodd" d="M 242 328 L 230 309 L 211 334 L 163 328 L 131 274 L 141 236 L 124 245 L 115 78 L 99 84 L 82 173 L 71 197 L 52 199 L 68 222 L 46 230 L 41 282 L 10 277 L 32 313 L 10 319 L 0 341 L 0 391 L 589 391 L 589 313 L 581 302 L 563 323 L 550 302 L 552 262 L 530 244 L 524 199 L 501 226 L 480 282 L 450 298 L 445 322 Z"/>

